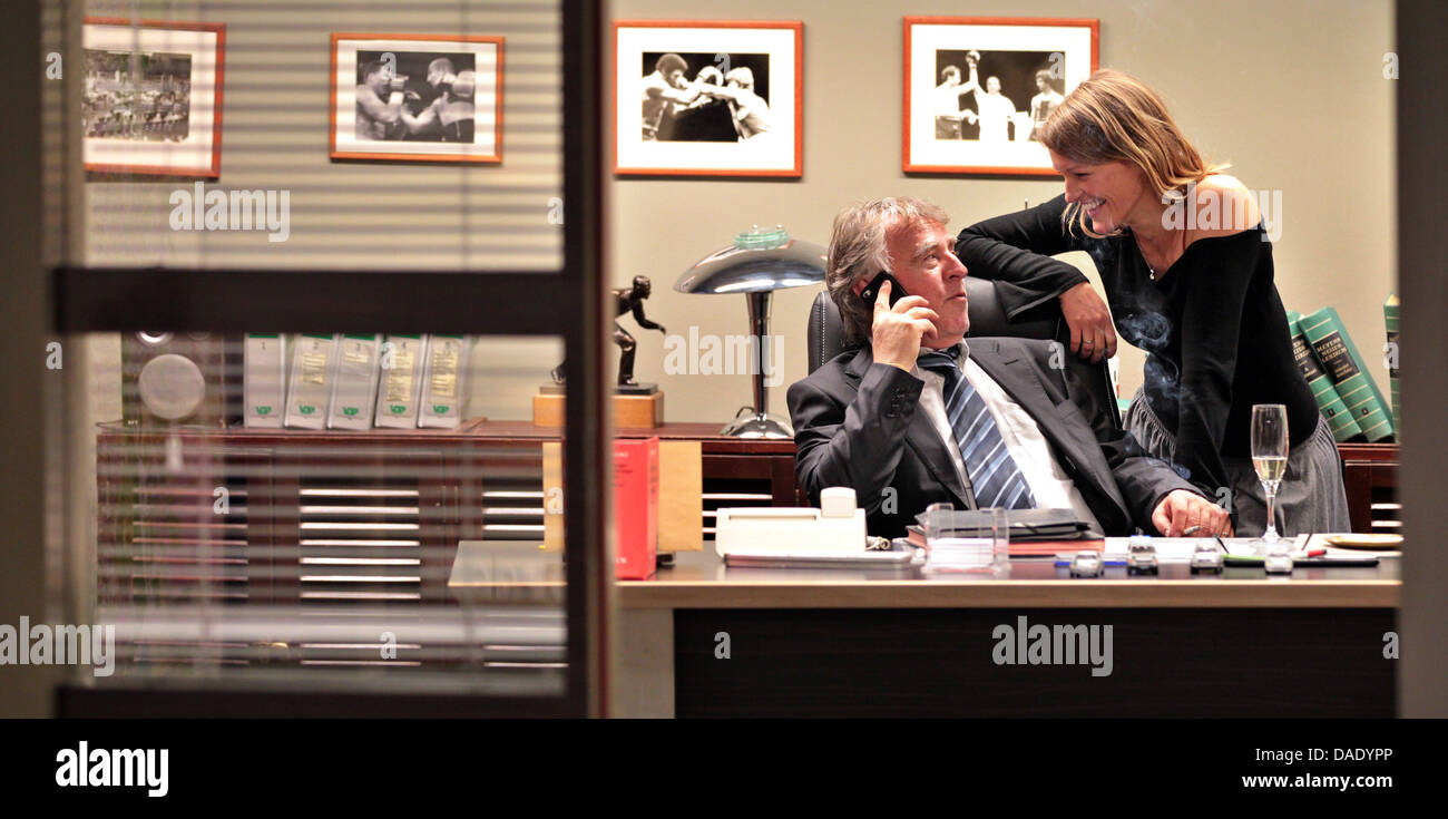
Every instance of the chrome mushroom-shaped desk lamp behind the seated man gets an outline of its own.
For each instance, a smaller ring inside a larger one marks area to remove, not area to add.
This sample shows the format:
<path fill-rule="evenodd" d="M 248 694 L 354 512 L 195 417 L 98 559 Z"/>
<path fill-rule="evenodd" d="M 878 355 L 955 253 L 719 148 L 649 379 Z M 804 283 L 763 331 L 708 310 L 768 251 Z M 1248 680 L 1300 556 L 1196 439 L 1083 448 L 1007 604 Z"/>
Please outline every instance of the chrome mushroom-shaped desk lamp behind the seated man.
<path fill-rule="evenodd" d="M 785 287 L 824 281 L 825 249 L 814 242 L 789 238 L 779 225 L 760 230 L 759 225 L 734 236 L 683 271 L 673 288 L 679 293 L 743 293 L 749 299 L 749 325 L 753 332 L 752 359 L 754 406 L 741 407 L 721 435 L 734 438 L 794 438 L 789 420 L 769 415 L 769 390 L 765 367 L 769 362 L 769 294 Z"/>

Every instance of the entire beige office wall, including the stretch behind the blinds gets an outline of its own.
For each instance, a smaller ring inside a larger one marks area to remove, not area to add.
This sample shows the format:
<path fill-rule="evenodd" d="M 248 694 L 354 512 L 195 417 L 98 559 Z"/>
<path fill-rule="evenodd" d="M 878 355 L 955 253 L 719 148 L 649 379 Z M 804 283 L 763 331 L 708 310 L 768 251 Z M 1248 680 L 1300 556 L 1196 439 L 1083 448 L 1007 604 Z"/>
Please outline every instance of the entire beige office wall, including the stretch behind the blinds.
<path fill-rule="evenodd" d="M 88 0 L 90 13 L 126 14 L 132 3 Z M 288 12 L 287 3 L 146 1 L 143 16 L 227 23 L 223 188 L 292 190 L 292 238 L 261 233 L 175 233 L 167 226 L 172 183 L 93 181 L 84 186 L 90 264 L 297 267 L 491 267 L 557 264 L 547 200 L 557 196 L 556 30 L 547 13 L 517 6 L 333 0 Z M 207 13 L 201 13 L 206 9 Z M 856 199 L 909 193 L 943 204 L 954 225 L 1056 196 L 1056 180 L 906 177 L 901 172 L 901 17 L 995 14 L 1100 19 L 1102 65 L 1131 71 L 1167 99 L 1177 120 L 1212 158 L 1231 161 L 1251 188 L 1283 194 L 1274 246 L 1289 307 L 1334 304 L 1370 359 L 1383 342 L 1383 297 L 1396 281 L 1392 242 L 1393 87 L 1381 75 L 1392 48 L 1386 0 L 617 0 L 615 17 L 804 20 L 804 177 L 762 180 L 613 180 L 608 261 L 617 286 L 649 275 L 649 313 L 670 333 L 747 332 L 738 296 L 685 296 L 673 281 L 692 262 L 752 223 L 785 225 L 824 244 L 834 212 Z M 491 168 L 339 164 L 326 152 L 327 33 L 333 30 L 504 33 L 504 162 Z M 611 42 L 610 42 L 611 48 Z M 611 157 L 608 158 L 611 167 Z M 440 193 L 445 200 L 439 206 Z M 371 215 L 358 203 L 375 201 Z M 348 206 L 345 209 L 343 206 Z M 395 252 L 379 236 L 395 235 Z M 498 252 L 500 246 L 511 251 Z M 416 254 L 416 255 L 414 255 Z M 805 374 L 804 317 L 815 288 L 776 294 L 773 330 L 785 336 L 783 387 Z M 546 294 L 540 294 L 546 297 Z M 663 373 L 665 336 L 623 325 L 639 338 L 637 374 L 668 393 L 669 420 L 724 422 L 752 402 L 747 375 Z M 473 380 L 473 415 L 527 417 L 530 396 L 556 364 L 552 344 L 507 344 L 475 358 L 507 368 Z M 106 383 L 117 345 L 97 348 Z M 1140 383 L 1140 354 L 1122 355 L 1122 391 Z M 1386 373 L 1370 365 L 1386 387 Z M 1384 388 L 1386 391 L 1386 388 Z M 97 417 L 117 412 L 97 384 Z"/>

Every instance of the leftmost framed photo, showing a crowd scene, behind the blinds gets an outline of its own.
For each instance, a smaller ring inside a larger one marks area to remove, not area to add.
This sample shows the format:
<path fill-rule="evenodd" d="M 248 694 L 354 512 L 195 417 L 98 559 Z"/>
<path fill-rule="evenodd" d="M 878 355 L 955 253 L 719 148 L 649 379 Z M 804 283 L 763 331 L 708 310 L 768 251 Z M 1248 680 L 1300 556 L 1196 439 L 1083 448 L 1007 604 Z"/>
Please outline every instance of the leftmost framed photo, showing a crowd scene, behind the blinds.
<path fill-rule="evenodd" d="M 224 23 L 85 17 L 81 45 L 87 171 L 220 178 Z"/>

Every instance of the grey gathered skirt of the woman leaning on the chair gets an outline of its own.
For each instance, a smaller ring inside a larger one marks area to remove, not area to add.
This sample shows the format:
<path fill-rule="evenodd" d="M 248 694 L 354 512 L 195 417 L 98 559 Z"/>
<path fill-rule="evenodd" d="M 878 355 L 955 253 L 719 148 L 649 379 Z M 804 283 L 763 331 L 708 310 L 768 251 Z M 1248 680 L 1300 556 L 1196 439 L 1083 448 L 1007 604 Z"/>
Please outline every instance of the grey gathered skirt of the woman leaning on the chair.
<path fill-rule="evenodd" d="M 1151 455 L 1176 462 L 1176 438 L 1151 412 L 1141 390 L 1131 399 L 1125 417 L 1127 432 L 1134 435 Z M 1237 512 L 1237 536 L 1255 538 L 1267 529 L 1267 496 L 1257 480 L 1251 458 L 1222 455 L 1226 467 L 1229 497 L 1224 500 L 1228 510 Z M 1225 494 L 1225 493 L 1221 493 Z M 1287 477 L 1277 489 L 1274 503 L 1277 533 L 1297 535 L 1300 532 L 1351 532 L 1348 519 L 1348 494 L 1342 487 L 1342 464 L 1332 429 L 1319 415 L 1318 429 L 1312 438 L 1287 452 Z"/>

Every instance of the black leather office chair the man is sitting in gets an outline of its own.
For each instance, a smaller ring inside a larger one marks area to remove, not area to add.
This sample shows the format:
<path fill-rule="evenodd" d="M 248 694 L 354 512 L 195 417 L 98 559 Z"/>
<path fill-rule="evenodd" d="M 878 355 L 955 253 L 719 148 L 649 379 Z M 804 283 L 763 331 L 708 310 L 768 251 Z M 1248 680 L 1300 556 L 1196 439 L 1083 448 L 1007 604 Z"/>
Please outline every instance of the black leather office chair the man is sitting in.
<path fill-rule="evenodd" d="M 1005 309 L 996 297 L 995 281 L 989 278 L 966 278 L 966 296 L 970 299 L 970 332 L 972 338 L 1015 336 L 1058 341 L 1070 344 L 1072 329 L 1061 316 L 1060 303 L 1051 299 L 1037 307 L 1021 313 L 1015 320 L 1005 317 Z M 850 348 L 844 338 L 844 322 L 840 320 L 840 309 L 834 306 L 828 293 L 815 296 L 809 306 L 809 371 L 814 373 L 825 361 L 840 355 Z M 1106 362 L 1090 364 L 1074 354 L 1066 354 L 1066 378 L 1074 387 L 1072 391 L 1082 396 L 1077 400 L 1086 417 L 1105 410 L 1112 426 L 1121 429 L 1121 409 L 1116 406 L 1116 394 L 1111 388 L 1111 371 Z"/>

